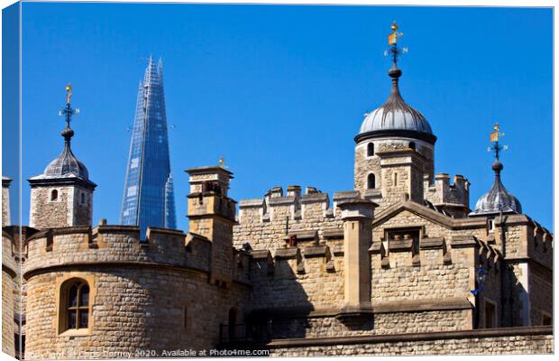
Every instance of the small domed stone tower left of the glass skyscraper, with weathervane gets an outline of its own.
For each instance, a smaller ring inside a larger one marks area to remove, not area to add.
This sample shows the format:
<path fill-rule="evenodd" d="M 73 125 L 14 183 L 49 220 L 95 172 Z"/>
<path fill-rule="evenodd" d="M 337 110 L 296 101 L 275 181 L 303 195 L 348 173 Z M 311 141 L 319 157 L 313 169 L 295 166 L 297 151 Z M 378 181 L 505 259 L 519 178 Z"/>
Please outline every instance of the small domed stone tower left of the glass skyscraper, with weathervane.
<path fill-rule="evenodd" d="M 70 105 L 71 85 L 66 87 L 66 106 L 60 110 L 65 116 L 66 128 L 62 153 L 45 168 L 42 174 L 30 178 L 30 227 L 55 228 L 89 226 L 92 221 L 93 191 L 96 184 L 89 180 L 86 166 L 72 153 L 70 128 L 72 116 L 78 109 Z"/>

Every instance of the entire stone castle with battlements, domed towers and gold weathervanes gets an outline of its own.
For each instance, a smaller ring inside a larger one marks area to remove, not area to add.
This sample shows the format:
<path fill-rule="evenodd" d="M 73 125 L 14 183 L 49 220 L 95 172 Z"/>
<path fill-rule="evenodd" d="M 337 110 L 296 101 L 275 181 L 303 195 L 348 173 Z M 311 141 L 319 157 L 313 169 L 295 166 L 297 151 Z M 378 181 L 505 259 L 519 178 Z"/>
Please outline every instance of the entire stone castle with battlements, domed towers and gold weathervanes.
<path fill-rule="evenodd" d="M 522 212 L 536 199 L 505 188 L 499 125 L 494 161 L 480 163 L 494 184 L 471 202 L 464 175 L 435 172 L 437 137 L 404 101 L 396 39 L 391 49 L 386 102 L 341 140 L 354 148 L 353 189 L 270 184 L 232 199 L 234 170 L 184 164 L 188 231 L 93 224 L 103 184 L 72 152 L 86 134 L 71 127 L 68 97 L 60 156 L 28 180 L 29 226 L 9 224 L 3 178 L 3 351 L 552 353 L 553 235 Z"/>

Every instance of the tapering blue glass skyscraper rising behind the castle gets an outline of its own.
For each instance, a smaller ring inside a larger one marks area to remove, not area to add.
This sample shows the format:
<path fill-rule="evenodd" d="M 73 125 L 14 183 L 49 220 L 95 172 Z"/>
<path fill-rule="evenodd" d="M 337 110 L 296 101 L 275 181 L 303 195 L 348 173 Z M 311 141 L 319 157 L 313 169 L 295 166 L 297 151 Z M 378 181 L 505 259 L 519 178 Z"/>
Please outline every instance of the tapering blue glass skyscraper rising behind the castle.
<path fill-rule="evenodd" d="M 163 65 L 149 60 L 138 89 L 120 223 L 175 228 L 175 195 L 163 92 Z"/>

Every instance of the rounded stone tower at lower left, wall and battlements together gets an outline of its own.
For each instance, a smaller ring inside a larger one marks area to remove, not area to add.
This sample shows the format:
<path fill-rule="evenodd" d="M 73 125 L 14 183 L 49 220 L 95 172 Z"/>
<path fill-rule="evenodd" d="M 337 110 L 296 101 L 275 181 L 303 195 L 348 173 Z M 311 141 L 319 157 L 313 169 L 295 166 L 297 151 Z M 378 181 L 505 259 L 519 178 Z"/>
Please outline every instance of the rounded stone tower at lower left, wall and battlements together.
<path fill-rule="evenodd" d="M 219 343 L 228 311 L 234 308 L 241 318 L 249 303 L 248 255 L 237 252 L 234 282 L 217 286 L 208 282 L 209 241 L 152 228 L 142 243 L 138 234 L 137 227 L 72 227 L 28 240 L 23 277 L 27 328 L 33 331 L 26 356 L 146 350 L 155 354 L 132 355 L 161 356 L 163 350 Z M 60 329 L 60 285 L 73 278 L 86 280 L 92 290 L 92 319 L 80 334 Z"/>

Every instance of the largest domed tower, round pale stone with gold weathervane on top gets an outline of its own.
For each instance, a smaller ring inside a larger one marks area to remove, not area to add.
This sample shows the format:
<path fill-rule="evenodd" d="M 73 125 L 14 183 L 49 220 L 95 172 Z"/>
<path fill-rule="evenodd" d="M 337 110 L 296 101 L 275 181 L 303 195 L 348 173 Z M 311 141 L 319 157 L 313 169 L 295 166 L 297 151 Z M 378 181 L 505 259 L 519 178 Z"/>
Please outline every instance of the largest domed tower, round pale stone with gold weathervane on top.
<path fill-rule="evenodd" d="M 360 190 L 365 198 L 378 199 L 381 205 L 387 203 L 390 196 L 396 197 L 401 193 L 407 193 L 411 199 L 421 200 L 424 177 L 432 183 L 434 176 L 436 137 L 426 117 L 408 106 L 399 92 L 402 71 L 398 68 L 398 57 L 403 51 L 397 45 L 401 33 L 396 23 L 392 24 L 392 31 L 389 35 L 389 53 L 393 62 L 389 69 L 389 98 L 365 115 L 359 134 L 354 138 L 354 188 Z M 396 160 L 396 155 L 404 156 L 407 160 Z M 386 161 L 382 162 L 382 159 Z M 394 163 L 407 163 L 408 166 L 405 169 L 383 171 Z"/>

